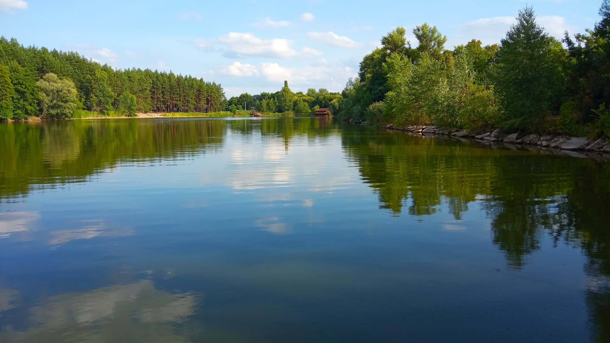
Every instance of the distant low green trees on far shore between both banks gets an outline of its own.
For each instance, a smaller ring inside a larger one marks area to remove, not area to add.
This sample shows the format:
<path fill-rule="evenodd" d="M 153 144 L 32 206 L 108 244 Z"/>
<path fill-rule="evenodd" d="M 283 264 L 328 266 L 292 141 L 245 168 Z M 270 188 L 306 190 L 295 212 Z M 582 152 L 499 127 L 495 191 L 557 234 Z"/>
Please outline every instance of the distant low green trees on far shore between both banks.
<path fill-rule="evenodd" d="M 227 103 L 227 110 L 235 112 L 241 109 L 253 109 L 263 113 L 292 112 L 295 115 L 308 115 L 320 108 L 336 111 L 342 102 L 341 93 L 331 93 L 325 88 L 319 90 L 309 88 L 307 93 L 294 93 L 288 87 L 288 81 L 284 81 L 284 87 L 275 93 L 262 92 L 257 95 L 243 93 L 240 96 L 233 96 Z"/>

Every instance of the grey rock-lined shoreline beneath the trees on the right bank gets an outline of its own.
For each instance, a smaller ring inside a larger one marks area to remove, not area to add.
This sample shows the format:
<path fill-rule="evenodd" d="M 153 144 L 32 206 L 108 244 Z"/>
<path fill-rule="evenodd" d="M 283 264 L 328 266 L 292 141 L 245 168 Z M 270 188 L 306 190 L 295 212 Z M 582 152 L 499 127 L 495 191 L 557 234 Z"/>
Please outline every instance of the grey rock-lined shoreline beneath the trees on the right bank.
<path fill-rule="evenodd" d="M 351 122 L 362 124 L 357 121 Z M 498 129 L 479 133 L 440 128 L 434 125 L 397 127 L 393 124 L 389 124 L 381 127 L 392 131 L 407 132 L 418 137 L 442 135 L 461 140 L 462 142 L 476 142 L 484 143 L 486 145 L 501 144 L 513 150 L 522 147 L 528 150 L 562 153 L 574 157 L 592 157 L 597 161 L 603 162 L 610 161 L 610 142 L 608 142 L 608 137 L 606 135 L 603 135 L 600 139 L 590 140 L 586 137 L 567 137 L 565 135 L 554 134 L 536 135 L 519 131 L 512 134 L 500 134 Z"/>

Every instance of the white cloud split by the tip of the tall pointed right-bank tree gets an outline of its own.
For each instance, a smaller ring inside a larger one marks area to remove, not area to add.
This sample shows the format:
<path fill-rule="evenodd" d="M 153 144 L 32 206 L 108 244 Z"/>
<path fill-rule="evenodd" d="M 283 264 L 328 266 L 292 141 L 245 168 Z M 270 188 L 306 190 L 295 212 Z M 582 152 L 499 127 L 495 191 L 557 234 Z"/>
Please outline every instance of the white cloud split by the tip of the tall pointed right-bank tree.
<path fill-rule="evenodd" d="M 539 16 L 536 21 L 540 26 L 544 26 L 546 31 L 555 38 L 561 39 L 564 31 L 575 31 L 576 27 L 565 22 L 562 16 Z M 473 38 L 481 40 L 484 44 L 500 43 L 506 37 L 506 32 L 515 24 L 517 20 L 512 16 L 496 16 L 494 18 L 483 18 L 462 24 L 458 29 L 458 37 L 461 38 L 458 44 Z"/>

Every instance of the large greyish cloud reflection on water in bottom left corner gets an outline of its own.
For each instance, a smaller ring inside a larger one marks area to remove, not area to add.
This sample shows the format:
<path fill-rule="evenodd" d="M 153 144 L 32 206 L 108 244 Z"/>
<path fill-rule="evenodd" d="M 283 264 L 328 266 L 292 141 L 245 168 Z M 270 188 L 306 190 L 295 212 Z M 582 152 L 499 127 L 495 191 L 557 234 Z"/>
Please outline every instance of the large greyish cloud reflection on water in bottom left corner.
<path fill-rule="evenodd" d="M 198 306 L 198 294 L 171 294 L 142 280 L 53 295 L 30 309 L 29 330 L 9 327 L 2 336 L 4 342 L 188 342 L 174 325 Z"/>

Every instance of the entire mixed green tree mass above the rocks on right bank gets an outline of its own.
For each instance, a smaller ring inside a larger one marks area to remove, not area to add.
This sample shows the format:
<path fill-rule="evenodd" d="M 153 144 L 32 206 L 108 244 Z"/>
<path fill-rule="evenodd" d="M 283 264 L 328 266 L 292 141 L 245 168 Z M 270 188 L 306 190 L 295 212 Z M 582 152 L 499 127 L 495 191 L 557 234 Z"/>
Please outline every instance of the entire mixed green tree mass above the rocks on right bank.
<path fill-rule="evenodd" d="M 594 29 L 560 42 L 520 10 L 498 45 L 453 50 L 436 26 L 397 27 L 364 57 L 337 114 L 354 121 L 484 131 L 610 134 L 610 0 Z M 565 44 L 562 45 L 562 43 Z"/>

